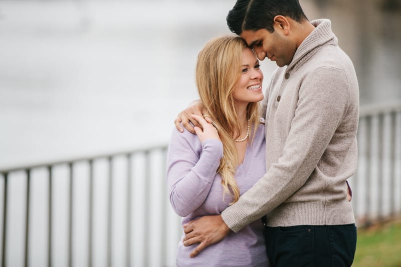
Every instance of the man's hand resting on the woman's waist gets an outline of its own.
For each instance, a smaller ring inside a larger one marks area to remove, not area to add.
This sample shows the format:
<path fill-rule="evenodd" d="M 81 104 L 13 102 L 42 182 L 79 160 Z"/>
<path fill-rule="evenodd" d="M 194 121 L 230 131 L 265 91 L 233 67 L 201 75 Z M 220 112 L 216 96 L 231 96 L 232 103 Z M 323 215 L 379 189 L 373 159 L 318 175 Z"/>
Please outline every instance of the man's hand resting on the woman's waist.
<path fill-rule="evenodd" d="M 183 225 L 185 237 L 183 243 L 185 246 L 200 243 L 189 254 L 194 257 L 205 247 L 217 243 L 230 233 L 230 228 L 224 222 L 221 215 L 203 216 Z"/>

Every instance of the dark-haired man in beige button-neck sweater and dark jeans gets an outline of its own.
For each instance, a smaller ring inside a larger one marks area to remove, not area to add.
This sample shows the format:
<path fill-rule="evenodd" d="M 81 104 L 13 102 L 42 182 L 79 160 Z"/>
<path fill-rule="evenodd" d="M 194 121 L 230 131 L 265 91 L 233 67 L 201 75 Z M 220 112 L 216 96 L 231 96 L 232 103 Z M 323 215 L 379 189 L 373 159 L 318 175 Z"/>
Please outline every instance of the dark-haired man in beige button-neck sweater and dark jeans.
<path fill-rule="evenodd" d="M 279 66 L 262 103 L 267 172 L 221 215 L 184 225 L 184 245 L 199 243 L 196 256 L 265 216 L 273 266 L 350 266 L 356 227 L 345 181 L 356 169 L 359 118 L 351 60 L 330 21 L 309 22 L 298 0 L 238 0 L 227 23 Z M 197 110 L 180 113 L 177 128 L 189 130 Z"/>

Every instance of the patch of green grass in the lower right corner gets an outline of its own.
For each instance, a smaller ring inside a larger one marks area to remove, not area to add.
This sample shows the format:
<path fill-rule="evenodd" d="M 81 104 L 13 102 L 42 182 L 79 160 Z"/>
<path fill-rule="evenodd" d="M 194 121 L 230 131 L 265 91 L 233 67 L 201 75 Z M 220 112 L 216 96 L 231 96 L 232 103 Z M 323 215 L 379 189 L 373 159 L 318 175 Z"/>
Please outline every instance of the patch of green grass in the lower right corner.
<path fill-rule="evenodd" d="M 358 229 L 352 266 L 401 266 L 401 222 Z"/>

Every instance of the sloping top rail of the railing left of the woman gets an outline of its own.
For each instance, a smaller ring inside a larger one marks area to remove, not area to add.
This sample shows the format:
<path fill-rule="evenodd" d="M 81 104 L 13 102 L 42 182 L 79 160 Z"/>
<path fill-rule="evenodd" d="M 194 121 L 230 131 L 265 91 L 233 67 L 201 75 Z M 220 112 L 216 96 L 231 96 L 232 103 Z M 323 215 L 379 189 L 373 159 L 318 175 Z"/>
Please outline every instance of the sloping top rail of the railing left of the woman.
<path fill-rule="evenodd" d="M 88 155 L 88 156 L 83 156 L 83 157 L 72 157 L 72 158 L 59 159 L 59 160 L 54 160 L 54 161 L 38 162 L 38 163 L 24 164 L 24 165 L 18 165 L 18 166 L 10 166 L 10 167 L 0 167 L 0 173 L 4 174 L 4 173 L 9 173 L 9 172 L 14 172 L 14 171 L 49 167 L 49 166 L 69 164 L 69 163 L 76 163 L 76 162 L 80 162 L 80 161 L 97 160 L 97 159 L 101 159 L 101 158 L 131 155 L 131 154 L 136 154 L 136 153 L 146 153 L 149 151 L 163 150 L 163 149 L 167 149 L 167 145 L 155 145 L 155 146 L 146 147 L 146 148 L 136 148 L 136 149 L 126 150 L 126 151 L 119 151 L 119 152 L 101 153 L 101 154 L 94 154 L 94 155 Z"/>

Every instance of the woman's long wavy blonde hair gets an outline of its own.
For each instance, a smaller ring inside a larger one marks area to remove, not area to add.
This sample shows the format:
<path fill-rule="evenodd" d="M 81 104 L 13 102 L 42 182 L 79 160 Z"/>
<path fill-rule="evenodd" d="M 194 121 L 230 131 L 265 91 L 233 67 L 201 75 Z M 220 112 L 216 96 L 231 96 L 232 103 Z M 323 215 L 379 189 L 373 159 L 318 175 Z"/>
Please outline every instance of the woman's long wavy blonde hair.
<path fill-rule="evenodd" d="M 234 178 L 237 169 L 237 149 L 234 139 L 239 138 L 241 125 L 235 109 L 233 92 L 241 78 L 242 53 L 247 48 L 239 36 L 227 35 L 209 41 L 199 52 L 196 63 L 196 85 L 200 100 L 205 105 L 223 142 L 223 158 L 218 173 L 222 176 L 224 193 L 233 197 L 230 204 L 240 198 Z M 259 104 L 249 103 L 247 116 L 251 129 L 259 124 Z M 254 130 L 250 140 L 253 140 Z M 237 137 L 233 139 L 233 135 Z"/>

